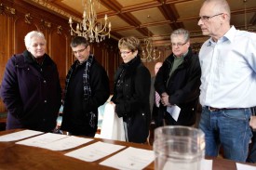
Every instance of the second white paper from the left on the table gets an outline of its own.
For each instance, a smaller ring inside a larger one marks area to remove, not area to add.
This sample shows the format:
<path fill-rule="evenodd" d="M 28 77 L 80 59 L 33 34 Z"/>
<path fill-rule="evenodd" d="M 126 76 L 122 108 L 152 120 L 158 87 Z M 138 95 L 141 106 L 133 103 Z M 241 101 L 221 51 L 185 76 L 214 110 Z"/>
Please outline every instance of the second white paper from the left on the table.
<path fill-rule="evenodd" d="M 16 142 L 16 143 L 20 144 L 20 145 L 28 145 L 28 146 L 34 146 L 34 147 L 40 147 L 41 148 L 44 145 L 47 145 L 48 143 L 51 143 L 55 140 L 59 140 L 59 139 L 64 138 L 64 137 L 69 137 L 69 136 L 47 133 L 47 134 L 43 134 L 41 136 L 21 140 L 21 141 Z"/>

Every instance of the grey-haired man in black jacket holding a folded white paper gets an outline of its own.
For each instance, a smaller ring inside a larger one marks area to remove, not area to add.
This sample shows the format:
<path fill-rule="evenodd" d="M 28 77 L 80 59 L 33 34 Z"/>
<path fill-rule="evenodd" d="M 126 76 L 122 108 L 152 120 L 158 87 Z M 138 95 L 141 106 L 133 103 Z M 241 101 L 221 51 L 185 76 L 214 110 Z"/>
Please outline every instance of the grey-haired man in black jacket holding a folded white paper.
<path fill-rule="evenodd" d="M 189 47 L 188 31 L 175 30 L 170 40 L 172 54 L 164 61 L 155 77 L 155 90 L 161 95 L 158 116 L 159 119 L 165 119 L 165 124 L 193 125 L 201 76 L 198 57 Z M 174 107 L 181 109 L 176 116 L 171 111 Z"/>

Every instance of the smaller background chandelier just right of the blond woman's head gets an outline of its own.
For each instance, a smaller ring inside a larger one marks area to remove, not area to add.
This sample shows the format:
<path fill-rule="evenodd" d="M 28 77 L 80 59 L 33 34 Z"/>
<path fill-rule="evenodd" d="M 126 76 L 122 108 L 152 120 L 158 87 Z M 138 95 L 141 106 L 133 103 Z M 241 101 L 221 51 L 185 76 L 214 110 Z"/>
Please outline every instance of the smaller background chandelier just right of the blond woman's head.
<path fill-rule="evenodd" d="M 144 45 L 145 46 L 142 47 L 142 61 L 150 62 L 161 57 L 161 51 L 158 51 L 158 54 L 156 55 L 155 46 L 153 46 L 152 38 L 145 38 Z"/>

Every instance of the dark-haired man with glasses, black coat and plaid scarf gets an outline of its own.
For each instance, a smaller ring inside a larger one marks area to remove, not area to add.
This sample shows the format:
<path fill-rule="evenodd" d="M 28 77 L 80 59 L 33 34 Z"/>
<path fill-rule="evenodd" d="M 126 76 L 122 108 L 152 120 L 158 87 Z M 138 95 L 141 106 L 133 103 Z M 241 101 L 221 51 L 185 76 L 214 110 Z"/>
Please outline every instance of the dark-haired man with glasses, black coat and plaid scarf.
<path fill-rule="evenodd" d="M 85 37 L 74 37 L 71 47 L 76 60 L 66 77 L 61 130 L 71 135 L 94 137 L 98 108 L 110 96 L 109 79 L 104 68 L 89 53 Z"/>

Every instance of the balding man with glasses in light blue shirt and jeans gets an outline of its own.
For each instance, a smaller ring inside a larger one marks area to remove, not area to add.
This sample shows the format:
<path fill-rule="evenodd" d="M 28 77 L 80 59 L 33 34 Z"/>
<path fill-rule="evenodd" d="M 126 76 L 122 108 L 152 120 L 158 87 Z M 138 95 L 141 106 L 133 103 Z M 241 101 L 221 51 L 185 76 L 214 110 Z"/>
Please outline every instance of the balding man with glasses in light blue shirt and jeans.
<path fill-rule="evenodd" d="M 230 25 L 226 0 L 206 0 L 198 25 L 209 35 L 200 49 L 202 70 L 199 128 L 206 134 L 206 155 L 245 162 L 251 129 L 249 108 L 256 106 L 256 33 Z"/>

